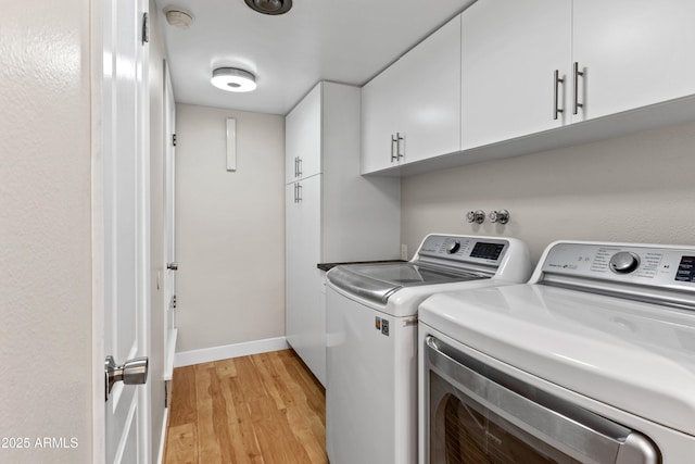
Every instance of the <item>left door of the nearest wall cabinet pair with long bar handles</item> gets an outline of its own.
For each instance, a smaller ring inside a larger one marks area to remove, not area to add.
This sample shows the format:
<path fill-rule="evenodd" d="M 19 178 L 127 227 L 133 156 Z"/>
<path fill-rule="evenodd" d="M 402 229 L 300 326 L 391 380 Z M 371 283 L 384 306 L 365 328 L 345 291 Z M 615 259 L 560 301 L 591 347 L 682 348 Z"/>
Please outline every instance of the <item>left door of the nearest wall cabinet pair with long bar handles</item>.
<path fill-rule="evenodd" d="M 571 0 L 485 0 L 463 13 L 463 149 L 560 126 L 571 54 Z M 569 118 L 567 118 L 569 122 Z"/>

